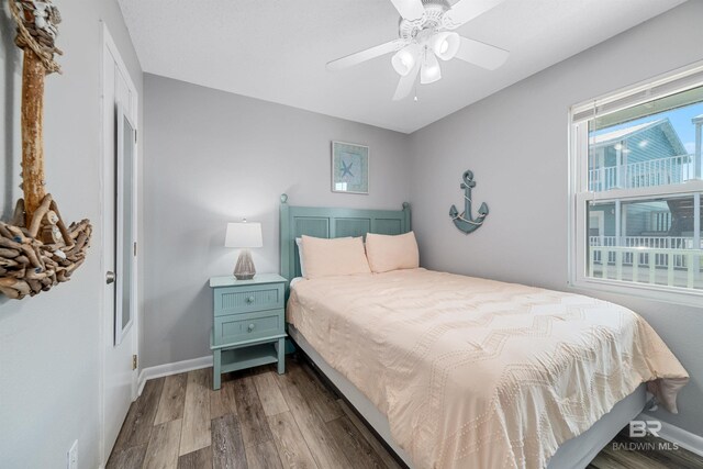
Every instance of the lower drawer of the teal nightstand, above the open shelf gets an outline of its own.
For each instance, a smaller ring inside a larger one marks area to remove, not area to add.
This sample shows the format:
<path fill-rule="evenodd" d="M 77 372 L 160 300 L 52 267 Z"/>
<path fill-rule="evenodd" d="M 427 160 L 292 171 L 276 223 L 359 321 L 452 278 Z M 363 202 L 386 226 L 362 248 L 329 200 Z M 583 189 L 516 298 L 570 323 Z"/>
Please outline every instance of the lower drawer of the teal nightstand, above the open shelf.
<path fill-rule="evenodd" d="M 283 334 L 283 310 L 217 316 L 214 322 L 214 345 L 252 340 Z"/>

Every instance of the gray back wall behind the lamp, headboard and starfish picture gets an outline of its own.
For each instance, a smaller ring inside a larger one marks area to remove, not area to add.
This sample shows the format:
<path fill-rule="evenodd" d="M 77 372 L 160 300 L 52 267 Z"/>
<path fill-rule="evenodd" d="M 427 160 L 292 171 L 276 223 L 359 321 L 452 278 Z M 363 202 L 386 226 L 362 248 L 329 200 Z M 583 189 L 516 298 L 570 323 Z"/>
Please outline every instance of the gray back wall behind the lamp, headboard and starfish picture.
<path fill-rule="evenodd" d="M 227 222 L 263 223 L 259 272 L 280 270 L 278 208 L 400 209 L 410 196 L 408 136 L 145 75 L 145 302 L 142 365 L 210 354 L 211 276 L 234 269 Z M 331 186 L 331 141 L 370 146 L 370 194 Z"/>

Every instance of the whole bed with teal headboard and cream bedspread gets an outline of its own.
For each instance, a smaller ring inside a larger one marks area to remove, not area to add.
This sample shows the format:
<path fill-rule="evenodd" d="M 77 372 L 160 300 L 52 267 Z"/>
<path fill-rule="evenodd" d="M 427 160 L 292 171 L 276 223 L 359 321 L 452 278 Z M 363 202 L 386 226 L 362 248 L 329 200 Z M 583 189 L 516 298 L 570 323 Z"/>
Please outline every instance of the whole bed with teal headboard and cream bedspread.
<path fill-rule="evenodd" d="M 295 237 L 395 235 L 411 227 L 408 204 L 382 211 L 281 201 L 281 270 L 288 279 L 301 276 Z M 470 299 L 482 309 L 472 313 L 475 321 L 448 327 L 447 317 L 473 308 Z M 511 308 L 525 305 L 540 313 L 511 315 Z M 287 320 L 295 344 L 409 467 L 585 467 L 641 412 L 647 394 L 640 381 L 655 380 L 650 390 L 676 411 L 676 391 L 688 379 L 654 331 L 622 306 L 424 269 L 302 280 L 292 287 Z M 587 320 L 603 325 L 582 324 Z M 561 340 L 553 345 L 569 359 L 551 360 L 551 331 L 570 334 L 566 324 L 581 324 L 581 335 L 593 338 L 589 344 L 601 345 L 563 347 Z M 613 331 L 631 339 L 644 334 L 654 346 L 623 351 L 620 344 L 628 339 Z M 523 367 L 525 354 L 559 370 L 546 381 L 566 379 L 560 386 L 571 394 L 553 392 L 557 384 L 545 382 L 538 367 Z M 613 354 L 626 357 L 627 367 L 614 366 Z M 512 361 L 501 362 L 504 356 Z M 477 357 L 478 368 L 465 366 Z M 612 369 L 581 377 L 579 384 L 559 367 L 580 362 Z M 507 386 L 505 373 L 496 378 L 493 368 L 511 369 Z M 593 398 L 583 395 L 594 389 Z"/>

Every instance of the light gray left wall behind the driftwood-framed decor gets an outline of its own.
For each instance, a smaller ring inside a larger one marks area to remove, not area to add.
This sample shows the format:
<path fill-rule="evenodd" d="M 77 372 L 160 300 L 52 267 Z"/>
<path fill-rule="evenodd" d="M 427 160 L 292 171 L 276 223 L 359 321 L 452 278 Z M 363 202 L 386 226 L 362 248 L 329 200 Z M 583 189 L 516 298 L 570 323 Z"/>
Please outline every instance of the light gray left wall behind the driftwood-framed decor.
<path fill-rule="evenodd" d="M 99 465 L 99 333 L 103 273 L 101 216 L 100 20 L 142 91 L 142 70 L 115 0 L 59 1 L 64 75 L 46 79 L 48 191 L 65 220 L 89 217 L 92 246 L 68 283 L 22 301 L 0 295 L 0 467 L 65 468 L 78 439 L 79 466 Z M 8 2 L 0 8 L 0 211 L 21 197 L 21 52 Z"/>

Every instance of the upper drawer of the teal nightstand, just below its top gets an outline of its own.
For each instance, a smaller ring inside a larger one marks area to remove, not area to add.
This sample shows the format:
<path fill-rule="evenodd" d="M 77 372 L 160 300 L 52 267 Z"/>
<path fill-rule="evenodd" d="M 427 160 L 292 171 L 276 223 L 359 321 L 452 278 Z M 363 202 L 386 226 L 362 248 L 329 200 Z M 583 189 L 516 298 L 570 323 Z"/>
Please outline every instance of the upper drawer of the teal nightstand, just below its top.
<path fill-rule="evenodd" d="M 214 306 L 215 316 L 283 308 L 283 286 L 217 288 L 214 290 Z"/>

